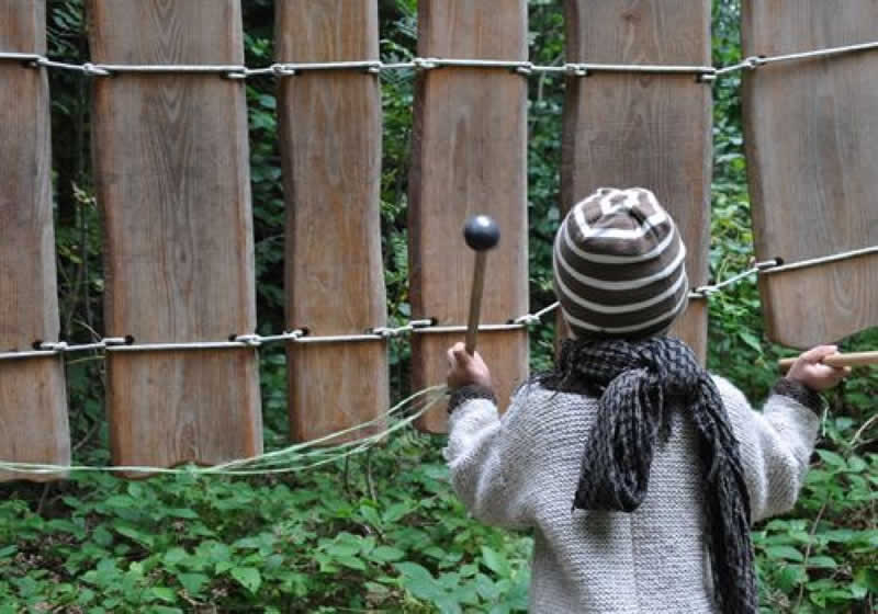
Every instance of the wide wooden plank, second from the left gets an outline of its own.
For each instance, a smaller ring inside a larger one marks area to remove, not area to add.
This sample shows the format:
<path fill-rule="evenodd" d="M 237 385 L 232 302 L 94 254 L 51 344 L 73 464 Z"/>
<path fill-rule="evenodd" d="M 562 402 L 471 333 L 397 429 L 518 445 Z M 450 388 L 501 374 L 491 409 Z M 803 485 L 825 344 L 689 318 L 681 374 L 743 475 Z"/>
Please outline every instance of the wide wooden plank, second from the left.
<path fill-rule="evenodd" d="M 236 0 L 90 0 L 105 64 L 243 64 Z M 105 327 L 137 342 L 218 341 L 256 328 L 244 84 L 215 75 L 94 82 L 105 224 Z M 215 464 L 262 447 L 252 350 L 110 353 L 116 464 Z"/>

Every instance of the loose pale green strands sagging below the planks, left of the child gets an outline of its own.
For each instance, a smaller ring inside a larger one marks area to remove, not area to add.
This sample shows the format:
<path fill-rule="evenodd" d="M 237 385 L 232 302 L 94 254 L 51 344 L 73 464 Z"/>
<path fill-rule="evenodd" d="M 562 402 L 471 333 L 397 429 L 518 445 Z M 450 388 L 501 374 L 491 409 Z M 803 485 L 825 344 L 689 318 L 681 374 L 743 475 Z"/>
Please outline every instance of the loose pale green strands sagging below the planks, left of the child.
<path fill-rule="evenodd" d="M 383 440 L 387 435 L 406 428 L 412 422 L 424 416 L 430 408 L 432 408 L 443 396 L 447 388 L 446 386 L 432 386 L 419 390 L 412 396 L 403 399 L 380 417 L 362 422 L 354 427 L 324 435 L 323 437 L 312 440 L 309 442 L 294 444 L 282 450 L 268 452 L 254 456 L 250 458 L 239 458 L 214 465 L 211 467 L 187 466 L 187 467 L 148 467 L 138 465 L 126 466 L 98 466 L 98 465 L 49 465 L 42 463 L 14 463 L 0 461 L 0 471 L 19 473 L 19 474 L 68 474 L 68 473 L 128 473 L 128 474 L 165 474 L 165 475 L 218 475 L 218 476 L 254 476 L 254 475 L 272 475 L 272 474 L 291 474 L 313 469 L 322 465 L 335 463 L 341 458 L 359 454 L 372 447 L 375 443 Z M 405 418 L 394 421 L 389 428 L 369 435 L 367 437 L 341 443 L 335 446 L 329 446 L 319 450 L 313 448 L 320 443 L 331 441 L 334 439 L 350 434 L 354 431 L 382 423 L 384 420 L 394 418 L 396 414 L 406 409 L 413 409 L 418 405 L 423 405 L 414 412 Z M 324 458 L 319 458 L 324 457 Z M 312 458 L 319 458 L 308 464 L 302 464 Z"/>

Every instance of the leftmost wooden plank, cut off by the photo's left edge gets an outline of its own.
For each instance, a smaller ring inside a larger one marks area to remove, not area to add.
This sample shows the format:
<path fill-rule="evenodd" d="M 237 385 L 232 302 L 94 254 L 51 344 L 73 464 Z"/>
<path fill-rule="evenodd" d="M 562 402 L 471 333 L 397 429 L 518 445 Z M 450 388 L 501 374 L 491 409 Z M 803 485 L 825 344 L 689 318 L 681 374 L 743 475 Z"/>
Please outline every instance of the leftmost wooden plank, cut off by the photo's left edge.
<path fill-rule="evenodd" d="M 43 0 L 0 0 L 0 50 L 46 53 Z M 0 352 L 58 339 L 48 80 L 0 62 Z M 0 459 L 70 463 L 60 357 L 0 361 Z M 60 475 L 0 471 L 0 481 Z"/>

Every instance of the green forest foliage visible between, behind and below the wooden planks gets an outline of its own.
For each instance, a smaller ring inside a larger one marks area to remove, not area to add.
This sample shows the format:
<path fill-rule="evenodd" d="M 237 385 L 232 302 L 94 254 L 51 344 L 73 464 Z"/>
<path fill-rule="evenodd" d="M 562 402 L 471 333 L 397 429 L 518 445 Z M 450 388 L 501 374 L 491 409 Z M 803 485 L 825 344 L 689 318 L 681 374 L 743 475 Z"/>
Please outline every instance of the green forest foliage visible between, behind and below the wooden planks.
<path fill-rule="evenodd" d="M 563 62 L 560 0 L 530 0 L 530 57 Z M 409 59 L 416 0 L 381 0 L 381 54 Z M 713 2 L 713 62 L 740 59 L 739 0 Z M 273 4 L 245 0 L 248 66 L 272 62 Z M 81 0 L 48 0 L 49 56 L 87 61 Z M 49 72 L 61 329 L 102 330 L 101 216 L 90 162 L 90 84 Z M 550 246 L 559 223 L 563 78 L 531 78 L 528 214 L 530 300 L 554 300 Z M 406 187 L 410 73 L 382 75 L 382 238 L 392 325 L 409 317 Z M 259 332 L 283 329 L 284 207 L 275 83 L 247 82 Z M 711 278 L 746 269 L 752 231 L 742 149 L 740 75 L 713 86 Z M 807 322 L 803 322 L 807 326 Z M 747 280 L 710 299 L 709 367 L 754 401 L 791 352 L 763 333 Z M 551 360 L 551 323 L 531 336 L 531 366 Z M 878 329 L 843 343 L 875 349 Z M 395 399 L 409 390 L 405 341 L 390 348 Z M 266 448 L 286 444 L 285 357 L 261 352 Z M 100 359 L 68 362 L 74 456 L 109 462 Z M 764 612 L 871 613 L 878 602 L 878 376 L 860 371 L 828 395 L 819 450 L 796 509 L 754 539 Z M 26 411 L 26 408 L 23 408 Z M 315 408 L 319 410 L 319 408 Z M 0 614 L 18 612 L 524 612 L 531 537 L 468 516 L 448 482 L 444 437 L 404 430 L 333 465 L 272 477 L 106 474 L 0 485 Z"/>

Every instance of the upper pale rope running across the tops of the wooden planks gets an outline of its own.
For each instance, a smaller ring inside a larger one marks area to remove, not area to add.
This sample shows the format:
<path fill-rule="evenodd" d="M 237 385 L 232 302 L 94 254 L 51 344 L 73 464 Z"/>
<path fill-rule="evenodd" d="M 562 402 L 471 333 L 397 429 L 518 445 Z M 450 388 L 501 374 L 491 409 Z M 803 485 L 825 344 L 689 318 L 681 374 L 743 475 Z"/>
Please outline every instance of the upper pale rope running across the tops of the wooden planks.
<path fill-rule="evenodd" d="M 353 61 L 320 62 L 274 62 L 270 66 L 248 68 L 239 65 L 155 65 L 155 64 L 71 64 L 49 59 L 40 54 L 18 52 L 0 52 L 0 61 L 16 61 L 34 68 L 52 68 L 81 72 L 88 77 L 112 77 L 123 73 L 189 73 L 218 75 L 228 79 L 248 79 L 251 77 L 292 77 L 307 71 L 354 70 L 371 75 L 381 75 L 394 70 L 432 70 L 437 68 L 482 68 L 502 69 L 529 76 L 539 73 L 562 73 L 572 77 L 588 77 L 595 72 L 627 72 L 654 75 L 695 75 L 699 81 L 712 82 L 719 77 L 739 70 L 754 70 L 769 64 L 799 61 L 804 59 L 823 59 L 841 55 L 878 49 L 878 41 L 826 47 L 777 56 L 751 56 L 738 64 L 712 66 L 677 66 L 643 64 L 592 64 L 567 62 L 561 66 L 537 65 L 527 60 L 469 59 L 469 58 L 429 58 L 415 57 L 409 61 L 383 62 L 378 59 Z"/>

